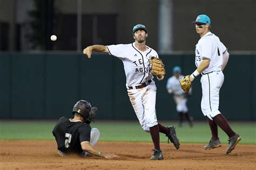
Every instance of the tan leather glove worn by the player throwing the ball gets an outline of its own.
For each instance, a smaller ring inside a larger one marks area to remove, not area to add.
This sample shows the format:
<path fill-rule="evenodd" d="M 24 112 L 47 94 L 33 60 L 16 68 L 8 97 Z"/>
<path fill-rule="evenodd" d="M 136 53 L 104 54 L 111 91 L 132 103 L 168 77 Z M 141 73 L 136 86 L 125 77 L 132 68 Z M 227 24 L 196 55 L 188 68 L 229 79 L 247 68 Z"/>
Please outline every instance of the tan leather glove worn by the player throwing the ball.
<path fill-rule="evenodd" d="M 150 63 L 152 65 L 150 70 L 152 74 L 156 75 L 159 78 L 165 75 L 165 68 L 162 60 L 156 58 L 155 56 L 152 56 L 152 58 L 150 59 Z"/>

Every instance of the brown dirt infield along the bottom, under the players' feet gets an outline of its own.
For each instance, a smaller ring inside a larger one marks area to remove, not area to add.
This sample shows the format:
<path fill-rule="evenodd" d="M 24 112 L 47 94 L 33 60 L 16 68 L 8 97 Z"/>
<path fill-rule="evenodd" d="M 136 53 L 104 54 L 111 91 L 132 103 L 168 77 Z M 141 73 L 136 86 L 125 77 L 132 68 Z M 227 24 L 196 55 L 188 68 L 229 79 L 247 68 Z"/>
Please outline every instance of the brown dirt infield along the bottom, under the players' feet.
<path fill-rule="evenodd" d="M 237 145 L 226 155 L 227 145 L 214 150 L 203 144 L 161 144 L 164 160 L 152 161 L 151 143 L 99 142 L 102 151 L 120 155 L 119 160 L 99 157 L 61 157 L 55 141 L 0 140 L 1 169 L 256 169 L 256 145 Z"/>

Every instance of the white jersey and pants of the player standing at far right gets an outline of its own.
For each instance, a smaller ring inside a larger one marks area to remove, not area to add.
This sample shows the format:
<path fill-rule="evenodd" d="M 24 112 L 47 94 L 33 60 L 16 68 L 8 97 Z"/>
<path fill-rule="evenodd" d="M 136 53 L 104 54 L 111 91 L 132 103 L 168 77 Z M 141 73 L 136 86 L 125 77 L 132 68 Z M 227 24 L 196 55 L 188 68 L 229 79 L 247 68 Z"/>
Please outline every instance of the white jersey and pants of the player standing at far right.
<path fill-rule="evenodd" d="M 201 110 L 204 116 L 212 118 L 220 114 L 219 91 L 224 82 L 224 74 L 221 70 L 223 65 L 223 54 L 227 48 L 219 37 L 208 32 L 201 37 L 196 45 L 195 63 L 198 67 L 203 59 L 210 60 L 210 65 L 204 70 L 201 77 L 202 100 Z"/>

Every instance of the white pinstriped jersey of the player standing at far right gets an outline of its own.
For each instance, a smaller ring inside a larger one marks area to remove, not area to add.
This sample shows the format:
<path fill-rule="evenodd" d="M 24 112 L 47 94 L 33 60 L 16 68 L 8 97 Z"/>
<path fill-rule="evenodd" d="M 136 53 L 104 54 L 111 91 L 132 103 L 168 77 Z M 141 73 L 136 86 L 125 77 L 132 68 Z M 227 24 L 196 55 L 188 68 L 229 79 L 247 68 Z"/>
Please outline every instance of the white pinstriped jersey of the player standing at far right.
<path fill-rule="evenodd" d="M 210 65 L 204 70 L 203 74 L 220 71 L 223 64 L 223 54 L 226 51 L 227 48 L 220 42 L 219 37 L 208 32 L 199 39 L 196 45 L 196 66 L 198 67 L 203 59 L 208 59 Z"/>

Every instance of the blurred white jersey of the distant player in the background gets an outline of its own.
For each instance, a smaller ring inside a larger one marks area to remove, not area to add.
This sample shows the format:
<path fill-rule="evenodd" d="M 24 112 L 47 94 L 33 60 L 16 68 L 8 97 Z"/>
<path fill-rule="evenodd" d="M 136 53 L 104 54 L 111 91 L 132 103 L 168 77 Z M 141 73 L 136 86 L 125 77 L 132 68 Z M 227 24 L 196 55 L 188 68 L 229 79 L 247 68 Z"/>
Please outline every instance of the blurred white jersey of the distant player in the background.
<path fill-rule="evenodd" d="M 183 89 L 181 89 L 179 81 L 180 79 L 184 77 L 184 75 L 179 75 L 179 79 L 176 78 L 176 76 L 171 76 L 168 80 L 167 80 L 167 84 L 166 84 L 166 89 L 171 89 L 173 91 L 174 95 L 182 95 L 185 92 L 183 91 Z"/>

